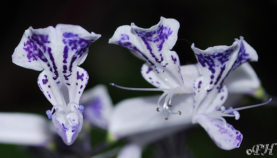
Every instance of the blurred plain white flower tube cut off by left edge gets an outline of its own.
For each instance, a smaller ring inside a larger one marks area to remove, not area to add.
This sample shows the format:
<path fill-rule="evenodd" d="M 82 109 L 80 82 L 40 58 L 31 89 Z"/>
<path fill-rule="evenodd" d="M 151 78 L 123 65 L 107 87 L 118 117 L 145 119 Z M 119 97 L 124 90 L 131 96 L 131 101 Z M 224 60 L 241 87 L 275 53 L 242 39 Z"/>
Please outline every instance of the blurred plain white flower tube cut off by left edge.
<path fill-rule="evenodd" d="M 54 137 L 49 130 L 50 121 L 36 114 L 0 113 L 0 120 L 1 143 L 47 146 Z"/>

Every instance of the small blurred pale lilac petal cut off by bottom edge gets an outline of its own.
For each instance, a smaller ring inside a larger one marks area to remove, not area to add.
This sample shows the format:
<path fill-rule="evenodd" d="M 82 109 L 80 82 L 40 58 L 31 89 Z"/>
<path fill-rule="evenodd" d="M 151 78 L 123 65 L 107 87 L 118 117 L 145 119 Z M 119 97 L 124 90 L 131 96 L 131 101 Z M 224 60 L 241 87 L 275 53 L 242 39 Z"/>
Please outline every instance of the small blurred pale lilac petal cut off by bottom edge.
<path fill-rule="evenodd" d="M 119 151 L 117 158 L 141 158 L 142 147 L 136 144 L 127 144 Z"/>

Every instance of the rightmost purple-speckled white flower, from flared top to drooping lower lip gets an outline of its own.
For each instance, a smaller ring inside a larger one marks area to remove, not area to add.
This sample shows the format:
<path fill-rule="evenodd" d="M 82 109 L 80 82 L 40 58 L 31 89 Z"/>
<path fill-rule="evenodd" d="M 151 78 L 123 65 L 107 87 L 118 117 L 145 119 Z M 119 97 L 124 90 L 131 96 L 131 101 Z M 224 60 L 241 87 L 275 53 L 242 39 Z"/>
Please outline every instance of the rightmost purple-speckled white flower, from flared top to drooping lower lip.
<path fill-rule="evenodd" d="M 202 51 L 192 45 L 198 59 L 201 76 L 194 82 L 193 123 L 199 123 L 213 141 L 222 149 L 238 148 L 242 134 L 226 123 L 223 116 L 240 115 L 236 109 L 226 110 L 222 106 L 228 98 L 228 88 L 224 83 L 227 75 L 244 62 L 257 61 L 257 52 L 240 37 L 231 46 L 215 46 Z M 217 111 L 217 110 L 221 111 Z"/>

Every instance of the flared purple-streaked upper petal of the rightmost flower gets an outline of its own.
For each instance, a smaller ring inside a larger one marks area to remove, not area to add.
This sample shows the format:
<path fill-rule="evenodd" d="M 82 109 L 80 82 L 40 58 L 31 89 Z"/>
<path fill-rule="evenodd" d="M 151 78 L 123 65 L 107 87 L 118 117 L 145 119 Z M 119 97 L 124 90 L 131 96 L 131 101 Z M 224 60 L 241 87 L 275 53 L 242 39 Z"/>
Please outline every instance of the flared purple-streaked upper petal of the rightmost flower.
<path fill-rule="evenodd" d="M 231 46 L 214 46 L 203 51 L 192 44 L 191 48 L 198 59 L 199 71 L 204 76 L 205 82 L 200 89 L 203 96 L 215 87 L 219 88 L 229 72 L 241 63 L 258 60 L 256 51 L 243 37 L 240 37 L 240 40 L 235 39 Z"/>

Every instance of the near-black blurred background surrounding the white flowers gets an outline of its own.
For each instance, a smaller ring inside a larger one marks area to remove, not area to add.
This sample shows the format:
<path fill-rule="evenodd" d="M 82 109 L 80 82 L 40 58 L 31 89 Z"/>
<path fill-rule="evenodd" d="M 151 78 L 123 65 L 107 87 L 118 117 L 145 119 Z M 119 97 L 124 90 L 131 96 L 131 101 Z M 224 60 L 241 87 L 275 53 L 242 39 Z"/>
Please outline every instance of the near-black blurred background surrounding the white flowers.
<path fill-rule="evenodd" d="M 25 69 L 12 63 L 11 55 L 26 29 L 46 28 L 59 23 L 80 25 L 102 37 L 90 46 L 85 62 L 90 79 L 86 89 L 96 84 L 108 86 L 114 104 L 124 98 L 161 94 L 117 89 L 110 82 L 128 87 L 152 87 L 140 75 L 144 63 L 127 48 L 108 44 L 117 27 L 134 22 L 142 28 L 156 25 L 161 16 L 180 22 L 178 39 L 186 39 L 200 49 L 215 45 L 231 45 L 234 38 L 243 36 L 257 51 L 259 61 L 251 63 L 264 89 L 277 96 L 276 84 L 276 17 L 275 0 L 230 1 L 9 1 L 1 4 L 1 57 L 0 57 L 0 111 L 26 112 L 45 115 L 52 106 L 37 86 L 39 71 Z M 177 41 L 175 50 L 181 64 L 195 62 L 190 44 Z M 249 98 L 248 98 L 249 99 Z M 250 98 L 251 99 L 251 98 Z M 257 100 L 247 104 L 258 103 Z M 211 141 L 201 127 L 193 128 L 189 148 L 195 157 L 251 157 L 246 149 L 256 144 L 272 144 L 276 139 L 276 104 L 240 111 L 239 121 L 227 119 L 243 134 L 238 149 L 224 151 Z M 46 115 L 45 115 L 46 117 Z M 1 121 L 0 121 L 1 123 Z M 1 145 L 0 153 L 7 152 Z M 273 154 L 277 155 L 277 146 Z M 17 148 L 16 148 L 17 149 Z M 10 150 L 16 150 L 11 147 Z M 210 154 L 208 154 L 210 153 Z M 9 153 L 8 153 L 9 154 Z M 11 153 L 10 153 L 11 154 Z M 269 156 L 268 157 L 274 157 Z M 22 155 L 21 155 L 22 156 Z M 27 155 L 28 157 L 28 155 Z M 264 156 L 265 157 L 265 156 Z"/>

